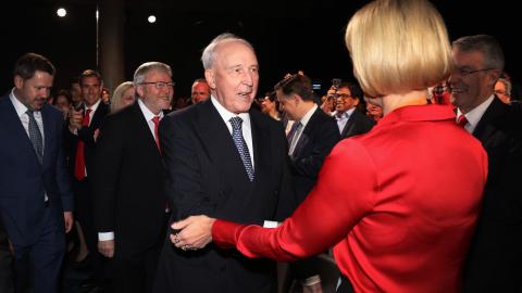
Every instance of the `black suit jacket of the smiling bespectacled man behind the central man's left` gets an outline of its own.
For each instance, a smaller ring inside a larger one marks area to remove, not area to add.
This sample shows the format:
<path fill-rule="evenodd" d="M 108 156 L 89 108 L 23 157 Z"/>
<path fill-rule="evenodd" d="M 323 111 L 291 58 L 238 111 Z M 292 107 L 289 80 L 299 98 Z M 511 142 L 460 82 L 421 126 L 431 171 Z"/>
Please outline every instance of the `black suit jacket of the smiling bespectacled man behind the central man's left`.
<path fill-rule="evenodd" d="M 137 102 L 107 116 L 95 162 L 95 224 L 98 232 L 114 231 L 115 257 L 128 258 L 163 242 L 164 171 Z"/>

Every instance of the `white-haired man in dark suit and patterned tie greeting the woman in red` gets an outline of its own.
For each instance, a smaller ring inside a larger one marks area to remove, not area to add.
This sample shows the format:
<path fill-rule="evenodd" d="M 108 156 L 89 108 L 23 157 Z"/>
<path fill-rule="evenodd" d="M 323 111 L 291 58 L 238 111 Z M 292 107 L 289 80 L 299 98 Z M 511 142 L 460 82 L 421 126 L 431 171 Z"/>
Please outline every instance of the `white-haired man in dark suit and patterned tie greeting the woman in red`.
<path fill-rule="evenodd" d="M 286 139 L 276 120 L 250 109 L 259 81 L 253 48 L 224 34 L 201 60 L 211 99 L 167 115 L 160 126 L 172 220 L 199 214 L 259 225 L 283 219 L 295 206 Z M 274 262 L 212 244 L 176 249 L 173 237 L 154 292 L 275 292 Z"/>

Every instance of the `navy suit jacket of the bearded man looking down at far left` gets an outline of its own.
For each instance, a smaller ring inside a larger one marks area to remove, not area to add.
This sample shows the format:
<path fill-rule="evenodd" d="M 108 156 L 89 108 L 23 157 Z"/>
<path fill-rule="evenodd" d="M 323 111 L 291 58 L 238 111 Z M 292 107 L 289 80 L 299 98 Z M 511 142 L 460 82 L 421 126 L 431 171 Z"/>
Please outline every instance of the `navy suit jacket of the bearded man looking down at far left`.
<path fill-rule="evenodd" d="M 62 228 L 63 212 L 73 208 L 71 177 L 64 164 L 63 114 L 49 104 L 40 112 L 42 165 L 9 94 L 0 98 L 0 217 L 11 241 L 21 246 L 33 245 L 48 225 L 41 220 L 45 194 Z"/>

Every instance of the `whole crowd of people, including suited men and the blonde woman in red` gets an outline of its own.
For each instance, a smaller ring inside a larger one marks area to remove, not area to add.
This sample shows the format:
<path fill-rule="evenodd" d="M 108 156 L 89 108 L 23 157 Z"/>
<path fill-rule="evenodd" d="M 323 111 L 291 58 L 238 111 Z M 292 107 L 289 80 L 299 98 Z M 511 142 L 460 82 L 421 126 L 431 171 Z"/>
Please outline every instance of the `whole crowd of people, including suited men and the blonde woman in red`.
<path fill-rule="evenodd" d="M 70 251 L 86 292 L 276 292 L 277 262 L 279 290 L 323 292 L 331 249 L 341 293 L 521 292 L 522 107 L 497 40 L 374 0 L 345 41 L 357 81 L 323 97 L 299 72 L 258 98 L 228 33 L 190 101 L 161 62 L 51 99 L 53 64 L 22 55 L 0 98 L 0 292 L 61 292 Z"/>

